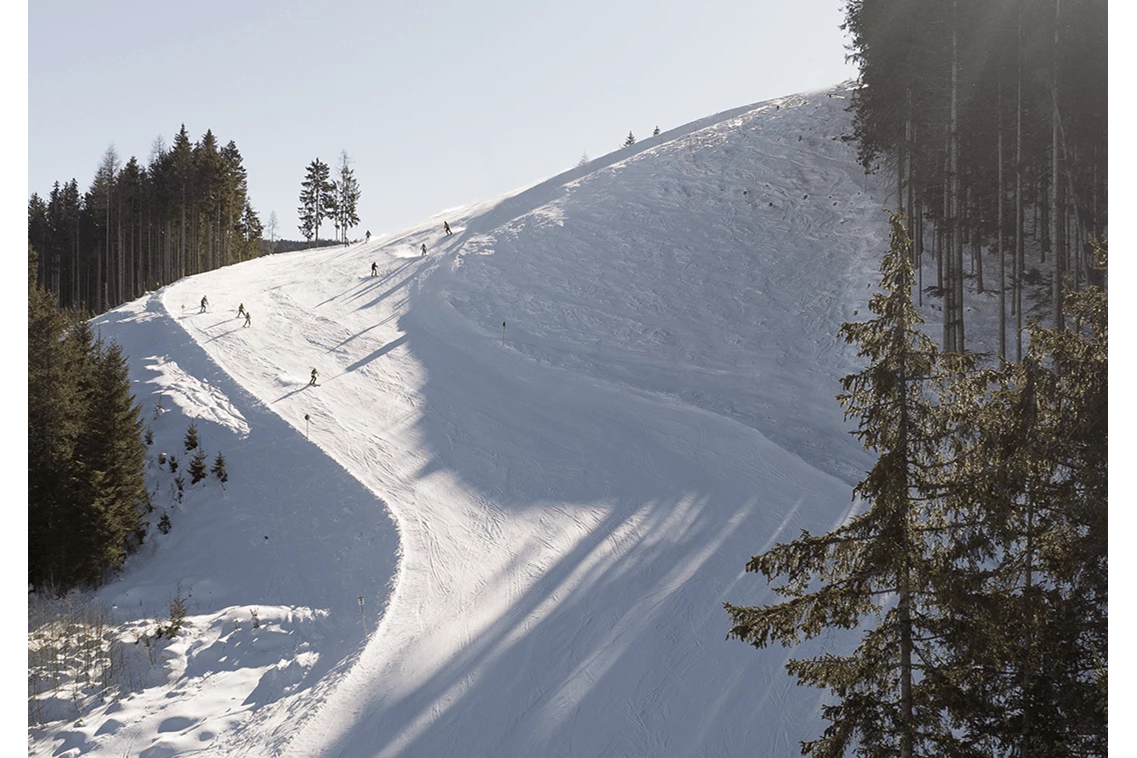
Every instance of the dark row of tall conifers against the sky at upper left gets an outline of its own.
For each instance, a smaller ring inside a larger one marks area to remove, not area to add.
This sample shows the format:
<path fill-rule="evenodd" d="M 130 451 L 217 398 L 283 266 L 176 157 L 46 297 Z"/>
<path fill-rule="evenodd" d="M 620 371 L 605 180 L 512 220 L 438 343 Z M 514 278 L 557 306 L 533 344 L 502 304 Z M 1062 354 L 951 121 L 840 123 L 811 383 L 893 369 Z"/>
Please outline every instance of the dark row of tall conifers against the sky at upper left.
<path fill-rule="evenodd" d="M 219 147 L 211 131 L 191 142 L 184 125 L 173 147 L 155 141 L 149 165 L 122 165 L 111 147 L 86 192 L 56 182 L 27 205 L 36 281 L 60 307 L 93 313 L 255 258 L 262 232 L 236 144 Z"/>

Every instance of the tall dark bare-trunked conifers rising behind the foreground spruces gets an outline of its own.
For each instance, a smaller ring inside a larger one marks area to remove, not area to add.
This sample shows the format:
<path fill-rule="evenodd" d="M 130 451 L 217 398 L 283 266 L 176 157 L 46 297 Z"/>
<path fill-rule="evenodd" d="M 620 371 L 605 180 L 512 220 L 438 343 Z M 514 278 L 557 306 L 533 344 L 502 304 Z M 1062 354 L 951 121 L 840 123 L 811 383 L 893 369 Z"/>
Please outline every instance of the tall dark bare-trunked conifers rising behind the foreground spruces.
<path fill-rule="evenodd" d="M 891 164 L 918 270 L 931 245 L 948 351 L 965 345 L 964 277 L 987 289 L 985 247 L 998 260 L 986 275 L 998 280 L 1001 356 L 1011 315 L 1022 357 L 1028 239 L 1053 273 L 1046 309 L 1056 327 L 1065 290 L 1102 281 L 1092 241 L 1109 224 L 1107 10 L 1104 0 L 846 6 L 861 160 Z"/>

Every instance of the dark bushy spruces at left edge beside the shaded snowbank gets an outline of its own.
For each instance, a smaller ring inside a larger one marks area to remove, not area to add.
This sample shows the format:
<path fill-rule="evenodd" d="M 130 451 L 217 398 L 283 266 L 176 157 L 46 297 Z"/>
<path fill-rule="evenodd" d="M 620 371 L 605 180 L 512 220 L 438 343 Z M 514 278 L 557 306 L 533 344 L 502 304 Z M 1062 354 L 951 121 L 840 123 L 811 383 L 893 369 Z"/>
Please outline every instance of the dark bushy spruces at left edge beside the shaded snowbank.
<path fill-rule="evenodd" d="M 97 583 L 142 542 L 149 495 L 126 359 L 57 307 L 27 249 L 27 581 Z"/>

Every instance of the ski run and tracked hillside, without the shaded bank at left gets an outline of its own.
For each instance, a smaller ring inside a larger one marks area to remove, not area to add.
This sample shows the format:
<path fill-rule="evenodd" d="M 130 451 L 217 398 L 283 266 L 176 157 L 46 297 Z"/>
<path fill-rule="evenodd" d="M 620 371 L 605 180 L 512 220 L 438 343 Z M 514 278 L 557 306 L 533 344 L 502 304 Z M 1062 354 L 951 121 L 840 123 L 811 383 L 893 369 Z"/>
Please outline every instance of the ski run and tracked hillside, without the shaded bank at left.
<path fill-rule="evenodd" d="M 848 498 L 825 473 L 847 448 L 811 447 L 840 411 L 795 373 L 847 363 L 825 277 L 873 240 L 847 247 L 839 210 L 811 205 L 848 182 L 781 116 L 454 214 L 453 239 L 246 265 L 252 328 L 191 328 L 294 428 L 315 420 L 398 528 L 377 628 L 284 755 L 780 755 L 816 719 L 782 658 L 721 642 L 722 601 L 756 594 L 746 558 Z M 653 183 L 653 161 L 679 178 Z M 282 383 L 312 366 L 319 388 Z"/>

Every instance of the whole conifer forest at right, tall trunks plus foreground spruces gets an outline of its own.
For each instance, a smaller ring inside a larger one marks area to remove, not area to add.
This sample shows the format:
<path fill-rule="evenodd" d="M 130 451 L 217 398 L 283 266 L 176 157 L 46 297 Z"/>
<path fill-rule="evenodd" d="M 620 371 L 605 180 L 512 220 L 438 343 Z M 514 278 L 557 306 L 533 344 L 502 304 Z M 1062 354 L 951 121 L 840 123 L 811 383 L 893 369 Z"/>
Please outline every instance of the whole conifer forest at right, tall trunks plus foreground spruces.
<path fill-rule="evenodd" d="M 857 640 L 787 665 L 830 695 L 803 755 L 1109 755 L 1106 9 L 847 5 L 860 157 L 896 186 L 873 318 L 841 332 L 878 460 L 856 516 L 746 565 L 778 601 L 724 603 L 760 649 Z M 991 290 L 985 365 L 964 293 Z"/>

